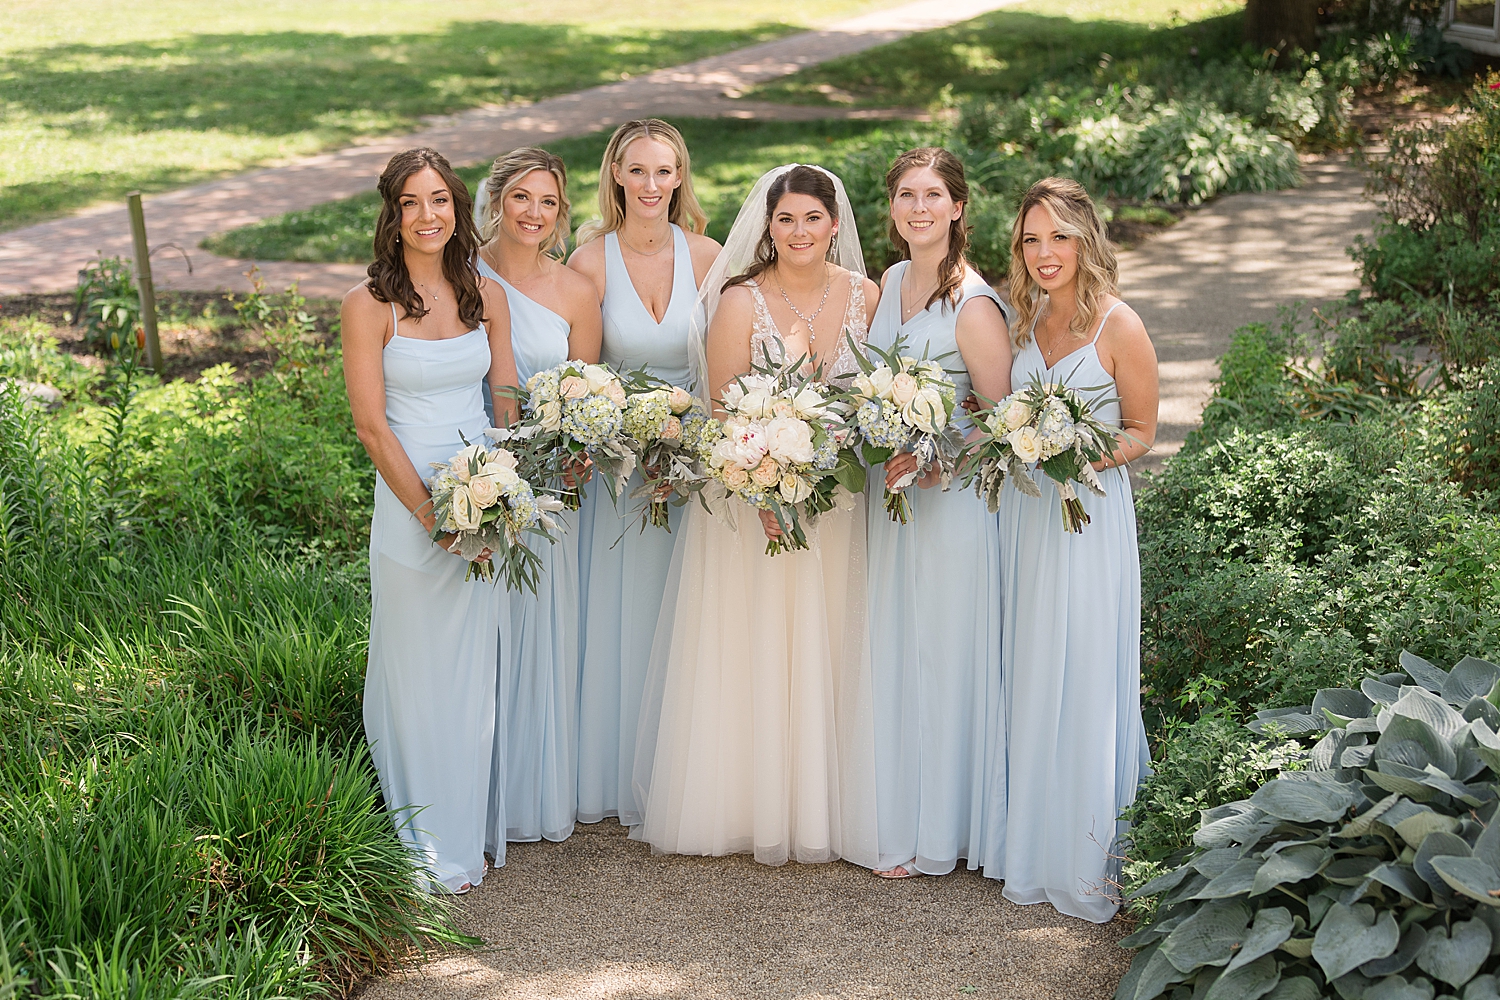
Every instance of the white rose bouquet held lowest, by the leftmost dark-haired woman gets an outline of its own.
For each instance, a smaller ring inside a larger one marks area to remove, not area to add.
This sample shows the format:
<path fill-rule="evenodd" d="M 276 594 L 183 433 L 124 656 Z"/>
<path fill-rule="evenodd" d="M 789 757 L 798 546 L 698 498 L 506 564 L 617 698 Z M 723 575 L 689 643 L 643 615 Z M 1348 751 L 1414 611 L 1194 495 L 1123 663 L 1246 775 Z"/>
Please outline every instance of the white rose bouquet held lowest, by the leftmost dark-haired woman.
<path fill-rule="evenodd" d="M 494 427 L 484 433 L 492 438 L 504 435 Z M 522 478 L 522 460 L 516 451 L 470 444 L 468 439 L 464 445 L 448 462 L 432 462 L 436 469 L 428 480 L 435 519 L 432 538 L 458 535 L 452 552 L 470 561 L 465 580 L 494 580 L 498 562 L 507 588 L 519 591 L 525 586 L 534 594 L 542 559 L 526 546 L 524 535 L 556 541 L 550 532 L 558 525 L 548 514 L 562 510 L 562 501 L 532 490 L 531 483 Z M 482 562 L 478 556 L 486 549 L 490 558 Z"/>

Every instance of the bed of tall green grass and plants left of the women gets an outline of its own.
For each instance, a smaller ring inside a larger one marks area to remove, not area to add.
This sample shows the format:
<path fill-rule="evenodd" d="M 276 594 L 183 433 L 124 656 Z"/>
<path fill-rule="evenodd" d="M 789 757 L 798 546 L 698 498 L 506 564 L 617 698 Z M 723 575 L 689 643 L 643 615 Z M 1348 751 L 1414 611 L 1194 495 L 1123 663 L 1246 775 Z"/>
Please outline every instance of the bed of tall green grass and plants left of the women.
<path fill-rule="evenodd" d="M 462 940 L 363 742 L 357 513 L 308 513 L 354 478 L 338 358 L 297 349 L 0 388 L 0 997 L 338 994 Z"/>

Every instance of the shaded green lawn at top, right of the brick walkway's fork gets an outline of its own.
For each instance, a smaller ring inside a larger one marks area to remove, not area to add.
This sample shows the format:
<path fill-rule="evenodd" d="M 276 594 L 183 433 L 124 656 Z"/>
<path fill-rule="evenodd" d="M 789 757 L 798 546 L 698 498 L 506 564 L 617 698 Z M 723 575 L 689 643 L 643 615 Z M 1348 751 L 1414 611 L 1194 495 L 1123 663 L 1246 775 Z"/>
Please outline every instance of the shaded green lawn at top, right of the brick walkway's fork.
<path fill-rule="evenodd" d="M 1234 0 L 1030 0 L 963 24 L 832 60 L 746 96 L 834 106 L 926 106 L 951 93 L 1020 94 L 1044 79 L 1130 60 L 1236 48 Z M 1116 66 L 1116 72 L 1118 72 Z"/>

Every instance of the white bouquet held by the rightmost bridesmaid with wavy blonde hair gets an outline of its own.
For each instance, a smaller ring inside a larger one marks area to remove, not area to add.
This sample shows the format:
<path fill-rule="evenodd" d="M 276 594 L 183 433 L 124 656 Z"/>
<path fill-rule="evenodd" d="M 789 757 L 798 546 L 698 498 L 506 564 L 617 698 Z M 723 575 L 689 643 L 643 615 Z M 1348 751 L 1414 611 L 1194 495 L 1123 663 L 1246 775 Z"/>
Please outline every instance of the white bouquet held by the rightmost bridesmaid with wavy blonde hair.
<path fill-rule="evenodd" d="M 1082 483 L 1095 496 L 1104 496 L 1092 463 L 1114 450 L 1114 430 L 1094 415 L 1100 402 L 1086 403 L 1072 388 L 1034 375 L 1026 388 L 975 415 L 981 436 L 974 444 L 969 481 L 992 513 L 999 510 L 1006 475 L 1026 496 L 1041 496 L 1028 469 L 1036 462 L 1058 484 L 1064 531 L 1083 531 L 1089 514 L 1072 484 Z"/>

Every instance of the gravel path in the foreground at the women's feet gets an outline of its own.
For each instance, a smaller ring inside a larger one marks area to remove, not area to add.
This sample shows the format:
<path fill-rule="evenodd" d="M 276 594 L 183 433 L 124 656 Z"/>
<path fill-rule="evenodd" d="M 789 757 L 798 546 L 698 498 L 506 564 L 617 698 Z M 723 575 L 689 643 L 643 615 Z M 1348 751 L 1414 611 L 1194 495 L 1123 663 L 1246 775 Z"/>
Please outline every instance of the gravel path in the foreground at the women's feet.
<path fill-rule="evenodd" d="M 1000 898 L 976 873 L 664 858 L 614 820 L 512 844 L 459 901 L 474 951 L 378 979 L 364 1000 L 1106 1000 L 1128 928 Z"/>

